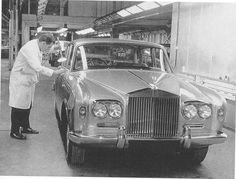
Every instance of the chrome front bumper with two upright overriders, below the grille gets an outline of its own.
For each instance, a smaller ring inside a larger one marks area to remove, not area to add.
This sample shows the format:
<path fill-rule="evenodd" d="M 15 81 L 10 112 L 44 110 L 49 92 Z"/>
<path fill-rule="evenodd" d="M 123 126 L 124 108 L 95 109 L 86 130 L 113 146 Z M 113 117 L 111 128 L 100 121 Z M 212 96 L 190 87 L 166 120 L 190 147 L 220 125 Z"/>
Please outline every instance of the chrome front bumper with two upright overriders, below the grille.
<path fill-rule="evenodd" d="M 183 134 L 181 137 L 175 138 L 161 138 L 161 139 L 146 139 L 133 138 L 125 135 L 125 128 L 121 127 L 117 136 L 86 136 L 74 132 L 69 133 L 69 139 L 84 147 L 102 147 L 102 148 L 127 148 L 130 140 L 145 140 L 145 141 L 179 141 L 183 148 L 190 148 L 194 146 L 204 146 L 211 144 L 223 143 L 227 135 L 223 132 L 209 134 L 205 136 L 192 136 L 191 129 L 188 126 L 183 127 Z"/>

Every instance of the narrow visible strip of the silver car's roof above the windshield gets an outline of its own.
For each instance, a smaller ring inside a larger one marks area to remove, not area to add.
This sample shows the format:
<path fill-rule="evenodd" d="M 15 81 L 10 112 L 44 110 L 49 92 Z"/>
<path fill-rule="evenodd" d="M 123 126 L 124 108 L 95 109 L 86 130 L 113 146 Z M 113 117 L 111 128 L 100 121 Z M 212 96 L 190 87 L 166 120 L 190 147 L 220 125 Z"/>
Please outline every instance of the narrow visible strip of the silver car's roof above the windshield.
<path fill-rule="evenodd" d="M 145 46 L 156 46 L 164 48 L 162 45 L 153 43 L 153 42 L 147 42 L 142 40 L 123 40 L 123 39 L 117 39 L 117 38 L 83 38 L 83 39 L 77 39 L 72 41 L 72 43 L 84 45 L 84 44 L 90 44 L 90 43 L 126 43 L 126 44 L 136 44 L 136 45 L 145 45 Z"/>

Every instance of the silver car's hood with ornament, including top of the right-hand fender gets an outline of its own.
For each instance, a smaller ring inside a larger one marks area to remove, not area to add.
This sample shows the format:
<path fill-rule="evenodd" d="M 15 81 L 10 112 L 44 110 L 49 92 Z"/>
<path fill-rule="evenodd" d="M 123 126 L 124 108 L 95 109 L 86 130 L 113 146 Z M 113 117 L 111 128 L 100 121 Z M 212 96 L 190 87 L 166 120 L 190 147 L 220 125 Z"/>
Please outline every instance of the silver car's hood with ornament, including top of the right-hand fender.
<path fill-rule="evenodd" d="M 181 96 L 185 100 L 210 102 L 208 95 L 196 86 L 176 77 L 174 74 L 146 70 L 88 70 L 83 72 L 83 83 L 91 94 L 118 92 L 128 94 L 145 88 L 158 89 Z M 98 88 L 103 90 L 99 90 Z M 106 89 L 106 90 L 104 90 Z M 99 94 L 101 96 L 101 94 Z"/>

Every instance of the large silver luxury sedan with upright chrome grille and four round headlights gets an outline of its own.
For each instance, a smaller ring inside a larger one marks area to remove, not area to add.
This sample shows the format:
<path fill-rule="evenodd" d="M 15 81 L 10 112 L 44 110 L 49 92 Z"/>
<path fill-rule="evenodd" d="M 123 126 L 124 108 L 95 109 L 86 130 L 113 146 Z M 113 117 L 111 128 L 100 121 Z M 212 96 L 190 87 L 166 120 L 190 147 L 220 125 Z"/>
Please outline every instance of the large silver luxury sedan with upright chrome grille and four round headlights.
<path fill-rule="evenodd" d="M 179 78 L 161 45 L 78 39 L 62 67 L 67 70 L 53 85 L 55 114 L 69 164 L 82 165 L 90 149 L 134 148 L 174 152 L 199 164 L 210 145 L 227 138 L 226 100 Z"/>

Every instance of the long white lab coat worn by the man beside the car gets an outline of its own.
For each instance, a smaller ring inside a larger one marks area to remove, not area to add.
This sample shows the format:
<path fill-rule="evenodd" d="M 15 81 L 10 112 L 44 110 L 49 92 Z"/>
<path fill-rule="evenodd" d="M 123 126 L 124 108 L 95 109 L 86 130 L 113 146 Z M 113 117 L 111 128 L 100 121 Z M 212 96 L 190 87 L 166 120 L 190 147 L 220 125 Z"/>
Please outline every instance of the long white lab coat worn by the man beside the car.
<path fill-rule="evenodd" d="M 41 65 L 38 39 L 27 42 L 19 51 L 10 75 L 9 106 L 29 109 L 33 105 L 39 74 L 52 76 L 53 70 Z"/>

